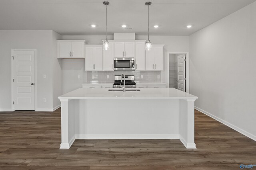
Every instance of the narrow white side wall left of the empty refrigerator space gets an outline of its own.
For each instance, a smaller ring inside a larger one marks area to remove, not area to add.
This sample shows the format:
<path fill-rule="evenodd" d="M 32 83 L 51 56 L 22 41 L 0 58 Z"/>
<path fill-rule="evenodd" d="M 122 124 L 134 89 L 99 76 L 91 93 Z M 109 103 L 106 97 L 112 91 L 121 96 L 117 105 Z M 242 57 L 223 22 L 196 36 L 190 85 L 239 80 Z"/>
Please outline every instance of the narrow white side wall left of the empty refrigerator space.
<path fill-rule="evenodd" d="M 62 95 L 62 60 L 57 59 L 57 39 L 61 39 L 61 35 L 52 31 L 52 102 L 53 108 L 60 106 L 58 96 Z"/>

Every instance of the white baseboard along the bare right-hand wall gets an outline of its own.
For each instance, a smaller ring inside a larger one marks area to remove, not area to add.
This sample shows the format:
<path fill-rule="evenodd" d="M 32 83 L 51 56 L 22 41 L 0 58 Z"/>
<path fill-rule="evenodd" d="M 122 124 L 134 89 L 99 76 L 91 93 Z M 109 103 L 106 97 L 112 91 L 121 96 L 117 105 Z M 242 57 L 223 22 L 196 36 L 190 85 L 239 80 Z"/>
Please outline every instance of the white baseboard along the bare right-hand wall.
<path fill-rule="evenodd" d="M 229 123 L 229 122 L 227 122 L 227 121 L 225 121 L 225 120 L 223 120 L 223 119 L 220 119 L 219 117 L 217 117 L 217 116 L 215 116 L 215 115 L 212 115 L 211 113 L 208 113 L 207 111 L 205 111 L 205 110 L 203 110 L 203 109 L 200 109 L 200 108 L 198 108 L 198 107 L 196 107 L 196 106 L 195 106 L 195 109 L 198 110 L 198 111 L 201 111 L 202 113 L 204 113 L 204 114 L 206 114 L 206 115 L 212 117 L 212 118 L 215 119 L 216 121 L 219 121 L 220 123 L 223 123 L 224 125 L 226 125 L 226 126 L 232 128 L 232 129 L 234 129 L 235 131 L 238 131 L 239 133 L 242 133 L 243 135 L 245 135 L 245 136 L 249 137 L 250 139 L 256 141 L 256 136 L 255 136 L 255 135 L 253 135 L 253 134 L 251 134 L 251 133 L 249 133 L 249 132 L 247 132 L 247 131 L 245 131 L 245 130 L 243 130 L 243 129 L 241 129 L 241 128 L 235 126 L 235 125 L 232 125 L 231 123 Z"/>

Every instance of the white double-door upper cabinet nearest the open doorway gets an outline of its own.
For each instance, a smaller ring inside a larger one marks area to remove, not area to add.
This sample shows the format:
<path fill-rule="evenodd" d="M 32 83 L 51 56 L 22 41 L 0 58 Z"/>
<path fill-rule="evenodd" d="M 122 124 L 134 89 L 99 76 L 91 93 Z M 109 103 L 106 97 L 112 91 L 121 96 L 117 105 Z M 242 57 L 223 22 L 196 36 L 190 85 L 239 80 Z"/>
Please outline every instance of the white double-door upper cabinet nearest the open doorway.
<path fill-rule="evenodd" d="M 164 70 L 164 45 L 152 45 L 146 51 L 146 70 Z"/>

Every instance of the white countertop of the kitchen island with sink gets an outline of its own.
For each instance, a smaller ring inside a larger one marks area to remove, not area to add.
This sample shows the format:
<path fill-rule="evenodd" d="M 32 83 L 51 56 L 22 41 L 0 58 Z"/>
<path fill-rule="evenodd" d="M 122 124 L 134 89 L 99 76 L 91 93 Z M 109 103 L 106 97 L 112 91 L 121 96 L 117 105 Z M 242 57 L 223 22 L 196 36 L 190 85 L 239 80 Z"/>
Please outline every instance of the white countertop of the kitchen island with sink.
<path fill-rule="evenodd" d="M 131 88 L 130 88 L 131 89 Z M 78 88 L 58 97 L 59 99 L 194 99 L 175 88 L 142 88 L 140 91 L 112 92 L 106 88 Z"/>

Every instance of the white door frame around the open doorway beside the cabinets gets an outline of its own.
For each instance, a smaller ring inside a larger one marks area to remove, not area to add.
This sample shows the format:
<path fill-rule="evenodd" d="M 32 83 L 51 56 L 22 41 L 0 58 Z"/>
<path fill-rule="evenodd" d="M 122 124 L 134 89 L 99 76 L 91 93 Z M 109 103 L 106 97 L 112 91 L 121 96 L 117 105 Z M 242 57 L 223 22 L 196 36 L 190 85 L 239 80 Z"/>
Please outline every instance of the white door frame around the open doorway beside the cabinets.
<path fill-rule="evenodd" d="M 169 72 L 169 65 L 170 65 L 170 54 L 186 54 L 186 61 L 185 61 L 185 65 L 186 65 L 186 68 L 185 68 L 185 75 L 186 75 L 186 81 L 185 81 L 185 88 L 186 88 L 186 93 L 189 93 L 189 54 L 188 52 L 167 52 L 167 61 L 168 61 L 168 73 L 167 73 L 167 82 L 168 82 L 168 87 L 169 87 L 169 83 L 170 83 L 170 72 Z"/>

